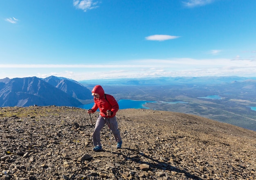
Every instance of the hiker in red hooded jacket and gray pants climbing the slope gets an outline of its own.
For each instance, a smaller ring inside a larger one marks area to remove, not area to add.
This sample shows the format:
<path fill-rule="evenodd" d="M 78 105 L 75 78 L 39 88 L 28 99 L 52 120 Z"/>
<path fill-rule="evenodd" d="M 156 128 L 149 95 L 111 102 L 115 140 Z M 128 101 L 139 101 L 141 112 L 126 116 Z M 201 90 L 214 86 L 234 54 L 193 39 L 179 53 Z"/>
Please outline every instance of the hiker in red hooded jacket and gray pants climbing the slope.
<path fill-rule="evenodd" d="M 94 86 L 92 89 L 92 96 L 94 96 L 94 105 L 92 109 L 88 110 L 87 112 L 89 114 L 94 113 L 98 108 L 100 111 L 99 118 L 96 121 L 92 135 L 92 142 L 95 146 L 93 150 L 100 151 L 102 149 L 100 131 L 105 124 L 108 125 L 110 130 L 112 130 L 115 141 L 117 142 L 117 149 L 120 149 L 122 145 L 122 139 L 118 130 L 116 118 L 116 113 L 119 110 L 117 101 L 110 94 L 105 94 L 103 88 L 100 85 Z"/>

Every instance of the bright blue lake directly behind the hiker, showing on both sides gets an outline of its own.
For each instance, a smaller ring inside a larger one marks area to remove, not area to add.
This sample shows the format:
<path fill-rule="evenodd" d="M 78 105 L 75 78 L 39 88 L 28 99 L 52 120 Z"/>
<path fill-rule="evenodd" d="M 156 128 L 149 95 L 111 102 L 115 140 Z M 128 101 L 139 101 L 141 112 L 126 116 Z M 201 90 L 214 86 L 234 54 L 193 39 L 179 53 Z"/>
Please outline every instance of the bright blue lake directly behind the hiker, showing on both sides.
<path fill-rule="evenodd" d="M 177 103 L 187 103 L 184 101 L 174 101 L 174 102 L 164 102 L 164 101 L 137 101 L 137 100 L 131 100 L 131 99 L 121 99 L 118 101 L 119 109 L 149 109 L 146 106 L 146 103 L 168 103 L 168 104 L 177 104 Z M 79 106 L 79 108 L 83 109 L 91 109 L 94 103 L 90 104 L 84 104 Z"/>

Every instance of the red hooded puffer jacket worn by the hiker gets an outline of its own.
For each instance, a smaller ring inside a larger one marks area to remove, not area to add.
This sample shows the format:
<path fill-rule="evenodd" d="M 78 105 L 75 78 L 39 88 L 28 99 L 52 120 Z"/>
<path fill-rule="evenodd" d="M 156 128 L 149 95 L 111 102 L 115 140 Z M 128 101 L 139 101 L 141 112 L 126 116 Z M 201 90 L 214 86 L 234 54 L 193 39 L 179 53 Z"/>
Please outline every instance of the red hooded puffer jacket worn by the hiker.
<path fill-rule="evenodd" d="M 92 107 L 92 111 L 95 112 L 99 108 L 101 116 L 106 117 L 107 110 L 110 110 L 112 111 L 112 114 L 109 117 L 114 117 L 119 110 L 119 105 L 115 98 L 110 94 L 105 94 L 103 88 L 99 85 L 92 89 L 92 93 L 99 94 L 99 99 L 94 97 L 94 105 Z"/>

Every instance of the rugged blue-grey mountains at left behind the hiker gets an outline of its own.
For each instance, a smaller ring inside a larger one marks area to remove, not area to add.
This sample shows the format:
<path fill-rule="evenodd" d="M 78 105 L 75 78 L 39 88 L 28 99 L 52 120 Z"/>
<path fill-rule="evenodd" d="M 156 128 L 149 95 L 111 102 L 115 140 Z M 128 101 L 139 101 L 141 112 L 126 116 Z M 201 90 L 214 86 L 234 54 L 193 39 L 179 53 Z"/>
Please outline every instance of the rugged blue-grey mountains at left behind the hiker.
<path fill-rule="evenodd" d="M 81 100 L 91 99 L 91 91 L 72 79 L 50 76 L 0 79 L 0 107 L 31 105 L 82 105 Z"/>

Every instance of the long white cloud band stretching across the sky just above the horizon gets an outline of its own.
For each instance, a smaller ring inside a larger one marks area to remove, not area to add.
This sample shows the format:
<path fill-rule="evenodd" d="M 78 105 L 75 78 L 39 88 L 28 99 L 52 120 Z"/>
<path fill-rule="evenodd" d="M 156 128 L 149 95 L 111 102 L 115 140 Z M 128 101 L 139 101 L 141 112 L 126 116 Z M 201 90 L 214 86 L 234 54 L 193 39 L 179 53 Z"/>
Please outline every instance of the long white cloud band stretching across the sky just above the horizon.
<path fill-rule="evenodd" d="M 108 70 L 106 70 L 108 69 Z M 84 79 L 137 77 L 256 76 L 256 61 L 234 59 L 134 59 L 109 64 L 0 64 L 5 77 L 58 77 Z M 15 72 L 15 73 L 14 73 Z"/>

